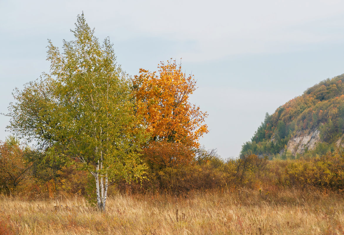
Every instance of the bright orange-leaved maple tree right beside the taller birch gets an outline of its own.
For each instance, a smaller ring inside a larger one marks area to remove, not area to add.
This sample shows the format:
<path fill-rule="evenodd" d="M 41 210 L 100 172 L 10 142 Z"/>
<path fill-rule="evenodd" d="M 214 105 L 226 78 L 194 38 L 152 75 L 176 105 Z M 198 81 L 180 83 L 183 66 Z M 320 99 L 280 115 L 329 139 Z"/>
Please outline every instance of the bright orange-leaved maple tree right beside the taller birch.
<path fill-rule="evenodd" d="M 137 112 L 143 116 L 153 141 L 199 146 L 198 139 L 208 129 L 202 124 L 206 112 L 189 102 L 196 88 L 193 76 L 186 76 L 175 60 L 161 62 L 158 73 L 140 69 L 133 79 L 133 90 Z"/>

